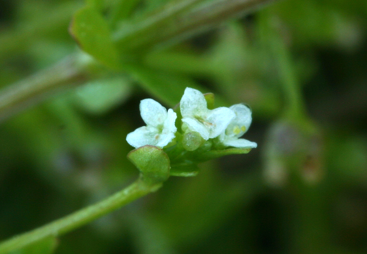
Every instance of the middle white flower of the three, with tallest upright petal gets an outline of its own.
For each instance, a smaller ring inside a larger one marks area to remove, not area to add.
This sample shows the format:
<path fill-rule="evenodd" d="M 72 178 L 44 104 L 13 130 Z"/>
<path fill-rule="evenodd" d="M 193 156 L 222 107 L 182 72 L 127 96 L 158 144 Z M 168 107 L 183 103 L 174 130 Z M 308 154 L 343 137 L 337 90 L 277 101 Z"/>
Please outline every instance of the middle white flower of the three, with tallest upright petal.
<path fill-rule="evenodd" d="M 205 139 L 217 137 L 236 117 L 229 108 L 209 110 L 204 95 L 187 87 L 180 102 L 182 122 L 188 129 L 199 132 Z"/>

